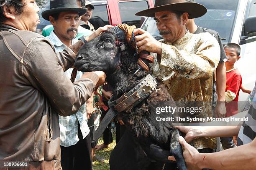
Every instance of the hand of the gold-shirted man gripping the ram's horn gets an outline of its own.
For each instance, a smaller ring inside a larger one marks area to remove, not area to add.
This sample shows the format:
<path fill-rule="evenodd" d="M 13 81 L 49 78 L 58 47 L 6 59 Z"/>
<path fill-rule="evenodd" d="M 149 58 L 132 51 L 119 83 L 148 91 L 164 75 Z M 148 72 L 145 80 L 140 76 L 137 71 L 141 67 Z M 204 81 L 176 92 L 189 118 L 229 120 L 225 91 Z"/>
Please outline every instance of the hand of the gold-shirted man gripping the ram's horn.
<path fill-rule="evenodd" d="M 138 47 L 138 52 L 146 50 L 148 52 L 155 52 L 159 55 L 162 53 L 162 45 L 161 42 L 157 41 L 152 35 L 150 35 L 145 30 L 141 28 L 137 28 L 134 30 L 136 44 Z"/>

